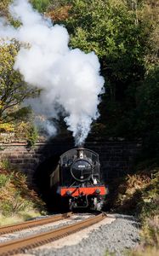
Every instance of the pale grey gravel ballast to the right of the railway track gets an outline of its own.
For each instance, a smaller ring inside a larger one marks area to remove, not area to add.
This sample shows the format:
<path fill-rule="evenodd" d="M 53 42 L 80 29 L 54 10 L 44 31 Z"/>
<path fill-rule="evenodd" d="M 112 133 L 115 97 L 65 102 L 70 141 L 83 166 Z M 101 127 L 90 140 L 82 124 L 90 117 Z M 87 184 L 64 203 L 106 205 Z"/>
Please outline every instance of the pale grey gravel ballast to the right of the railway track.
<path fill-rule="evenodd" d="M 99 226 L 93 230 L 88 238 L 72 246 L 58 249 L 53 247 L 39 247 L 28 250 L 36 256 L 104 256 L 105 252 L 121 256 L 126 249 L 133 248 L 139 243 L 139 222 L 133 216 L 113 214 L 116 220 L 111 224 Z"/>

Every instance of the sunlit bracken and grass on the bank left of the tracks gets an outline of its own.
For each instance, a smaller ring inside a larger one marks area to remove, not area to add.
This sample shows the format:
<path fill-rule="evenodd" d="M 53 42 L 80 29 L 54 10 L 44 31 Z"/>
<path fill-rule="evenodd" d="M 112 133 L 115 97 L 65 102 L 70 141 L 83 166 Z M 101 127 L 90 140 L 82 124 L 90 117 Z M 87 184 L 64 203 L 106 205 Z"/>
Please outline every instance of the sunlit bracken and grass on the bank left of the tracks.
<path fill-rule="evenodd" d="M 0 168 L 0 225 L 27 220 L 44 213 L 44 204 L 28 189 L 26 176 Z"/>

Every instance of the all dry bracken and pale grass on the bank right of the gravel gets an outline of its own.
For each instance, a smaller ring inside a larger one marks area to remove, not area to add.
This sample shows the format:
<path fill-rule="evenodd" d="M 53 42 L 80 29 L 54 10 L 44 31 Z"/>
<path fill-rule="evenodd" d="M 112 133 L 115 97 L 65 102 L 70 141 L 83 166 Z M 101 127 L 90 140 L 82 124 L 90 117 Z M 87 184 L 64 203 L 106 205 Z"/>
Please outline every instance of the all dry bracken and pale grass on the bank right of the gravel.
<path fill-rule="evenodd" d="M 119 184 L 120 183 L 120 184 Z M 141 244 L 128 255 L 159 254 L 159 167 L 139 171 L 116 181 L 114 211 L 135 214 L 141 221 Z"/>

